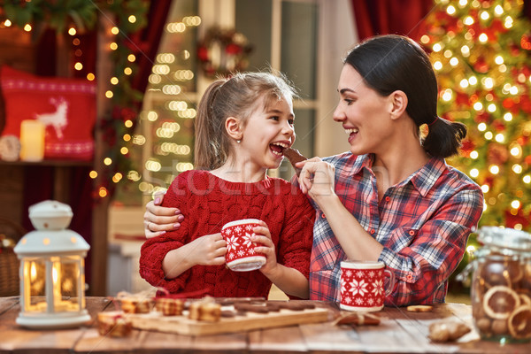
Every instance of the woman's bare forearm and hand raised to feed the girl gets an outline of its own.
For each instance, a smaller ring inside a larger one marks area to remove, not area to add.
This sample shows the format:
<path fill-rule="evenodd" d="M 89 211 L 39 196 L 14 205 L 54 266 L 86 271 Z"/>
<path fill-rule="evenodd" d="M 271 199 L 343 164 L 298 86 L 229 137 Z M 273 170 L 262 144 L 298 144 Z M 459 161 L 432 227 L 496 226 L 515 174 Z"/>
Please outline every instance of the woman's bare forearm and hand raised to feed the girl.
<path fill-rule="evenodd" d="M 304 165 L 298 180 L 301 190 L 324 212 L 347 258 L 378 260 L 383 246 L 366 232 L 335 194 L 335 167 L 319 158 L 299 164 Z"/>

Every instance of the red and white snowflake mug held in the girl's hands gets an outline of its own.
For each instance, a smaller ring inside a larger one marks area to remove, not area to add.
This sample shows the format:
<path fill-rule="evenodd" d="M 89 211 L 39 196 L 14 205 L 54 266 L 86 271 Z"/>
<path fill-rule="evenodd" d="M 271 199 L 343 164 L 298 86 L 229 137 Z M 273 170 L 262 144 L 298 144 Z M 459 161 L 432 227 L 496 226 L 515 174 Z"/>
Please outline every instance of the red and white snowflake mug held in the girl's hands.
<path fill-rule="evenodd" d="M 227 242 L 225 263 L 235 272 L 248 272 L 266 264 L 266 256 L 255 252 L 257 243 L 250 241 L 255 235 L 253 228 L 259 226 L 258 219 L 231 221 L 221 227 L 221 235 Z"/>

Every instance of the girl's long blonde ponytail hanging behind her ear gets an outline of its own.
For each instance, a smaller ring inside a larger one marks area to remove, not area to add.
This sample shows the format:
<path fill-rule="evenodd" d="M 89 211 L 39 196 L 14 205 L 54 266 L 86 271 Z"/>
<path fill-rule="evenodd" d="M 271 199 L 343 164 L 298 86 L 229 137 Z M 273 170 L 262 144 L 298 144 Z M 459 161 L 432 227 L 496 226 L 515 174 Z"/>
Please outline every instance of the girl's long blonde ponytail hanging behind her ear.
<path fill-rule="evenodd" d="M 222 148 L 223 133 L 216 119 L 214 104 L 219 89 L 226 80 L 217 80 L 204 91 L 204 95 L 197 106 L 196 114 L 196 143 L 194 147 L 194 165 L 196 169 L 212 170 L 222 165 L 227 156 Z"/>

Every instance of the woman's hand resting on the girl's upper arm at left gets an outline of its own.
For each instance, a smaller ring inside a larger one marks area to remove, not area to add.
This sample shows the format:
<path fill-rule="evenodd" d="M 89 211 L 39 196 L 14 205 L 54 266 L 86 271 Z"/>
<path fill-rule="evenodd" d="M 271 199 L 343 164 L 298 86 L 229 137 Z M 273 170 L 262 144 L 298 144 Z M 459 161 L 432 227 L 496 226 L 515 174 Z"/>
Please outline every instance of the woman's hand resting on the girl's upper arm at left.
<path fill-rule="evenodd" d="M 166 231 L 176 230 L 181 227 L 184 219 L 181 211 L 177 208 L 159 206 L 162 204 L 164 193 L 155 195 L 155 199 L 146 204 L 144 213 L 144 234 L 146 238 L 164 235 Z"/>

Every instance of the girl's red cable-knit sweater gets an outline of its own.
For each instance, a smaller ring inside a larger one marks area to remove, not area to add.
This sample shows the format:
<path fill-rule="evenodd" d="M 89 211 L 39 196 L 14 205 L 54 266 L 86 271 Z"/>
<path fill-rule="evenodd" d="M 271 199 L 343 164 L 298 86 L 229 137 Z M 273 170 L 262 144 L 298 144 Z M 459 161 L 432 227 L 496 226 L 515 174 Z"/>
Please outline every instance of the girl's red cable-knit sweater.
<path fill-rule="evenodd" d="M 229 182 L 207 171 L 181 173 L 164 197 L 164 206 L 178 207 L 181 227 L 144 242 L 140 274 L 155 287 L 171 293 L 210 289 L 223 296 L 264 296 L 271 281 L 260 271 L 233 272 L 223 266 L 193 266 L 174 279 L 165 279 L 162 261 L 168 251 L 203 235 L 216 234 L 229 221 L 264 220 L 271 232 L 277 262 L 309 273 L 315 211 L 300 190 L 288 181 L 266 178 L 256 183 Z"/>

